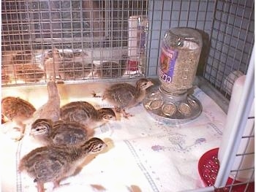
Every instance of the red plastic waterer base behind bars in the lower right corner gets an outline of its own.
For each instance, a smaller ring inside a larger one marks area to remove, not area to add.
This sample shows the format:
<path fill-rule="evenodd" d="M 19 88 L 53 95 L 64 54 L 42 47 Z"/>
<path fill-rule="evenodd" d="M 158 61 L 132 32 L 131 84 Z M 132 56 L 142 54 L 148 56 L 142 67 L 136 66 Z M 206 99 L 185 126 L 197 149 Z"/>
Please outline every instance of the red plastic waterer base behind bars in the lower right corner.
<path fill-rule="evenodd" d="M 208 150 L 202 155 L 198 162 L 198 172 L 205 186 L 213 186 L 219 172 L 219 160 L 218 160 L 219 148 Z M 232 185 L 233 179 L 228 177 L 226 185 Z M 234 183 L 241 183 L 237 180 Z M 232 191 L 242 192 L 246 188 L 246 184 L 236 185 L 232 187 Z M 230 188 L 227 187 L 223 191 L 229 191 Z M 247 188 L 248 192 L 255 191 L 255 183 L 249 183 Z"/>

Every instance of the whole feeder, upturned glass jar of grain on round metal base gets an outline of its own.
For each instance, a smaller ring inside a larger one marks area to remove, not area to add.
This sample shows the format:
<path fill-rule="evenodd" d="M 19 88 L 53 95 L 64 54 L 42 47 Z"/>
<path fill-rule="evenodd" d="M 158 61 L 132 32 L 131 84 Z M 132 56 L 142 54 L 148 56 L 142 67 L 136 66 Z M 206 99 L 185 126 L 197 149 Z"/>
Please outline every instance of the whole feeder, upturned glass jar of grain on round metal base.
<path fill-rule="evenodd" d="M 193 28 L 171 28 L 165 33 L 159 58 L 160 85 L 143 100 L 154 117 L 181 124 L 200 115 L 200 101 L 188 91 L 195 80 L 202 45 L 201 34 Z"/>

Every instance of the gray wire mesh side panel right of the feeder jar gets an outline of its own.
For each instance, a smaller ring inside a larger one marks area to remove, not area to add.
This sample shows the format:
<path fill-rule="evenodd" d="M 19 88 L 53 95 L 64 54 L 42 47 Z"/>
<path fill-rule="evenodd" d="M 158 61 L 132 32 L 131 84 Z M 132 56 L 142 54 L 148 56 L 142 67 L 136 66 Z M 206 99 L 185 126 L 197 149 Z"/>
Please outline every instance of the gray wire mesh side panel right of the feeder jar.
<path fill-rule="evenodd" d="M 222 91 L 230 72 L 246 74 L 254 28 L 254 1 L 217 1 L 204 77 Z"/>

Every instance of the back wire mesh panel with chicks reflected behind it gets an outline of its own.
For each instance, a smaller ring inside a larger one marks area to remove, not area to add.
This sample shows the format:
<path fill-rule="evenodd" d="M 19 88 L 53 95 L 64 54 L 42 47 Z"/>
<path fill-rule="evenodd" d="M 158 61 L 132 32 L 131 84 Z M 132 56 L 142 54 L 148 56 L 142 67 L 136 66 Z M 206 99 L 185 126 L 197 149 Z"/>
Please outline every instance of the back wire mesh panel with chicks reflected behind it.
<path fill-rule="evenodd" d="M 127 46 L 145 47 L 138 30 L 146 34 L 147 25 L 132 26 L 132 37 L 128 26 L 132 15 L 146 18 L 147 7 L 147 1 L 2 1 L 3 85 L 143 76 L 145 62 L 131 66 Z"/>

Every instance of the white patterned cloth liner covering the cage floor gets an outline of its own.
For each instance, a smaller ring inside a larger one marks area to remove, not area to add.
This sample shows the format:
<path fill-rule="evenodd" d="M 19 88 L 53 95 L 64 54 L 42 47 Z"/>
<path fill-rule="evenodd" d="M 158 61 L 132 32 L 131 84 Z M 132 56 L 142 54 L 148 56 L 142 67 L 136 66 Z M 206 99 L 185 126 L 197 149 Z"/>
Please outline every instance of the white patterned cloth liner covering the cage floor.
<path fill-rule="evenodd" d="M 143 105 L 128 112 L 135 114 L 95 129 L 95 137 L 108 141 L 109 149 L 96 158 L 86 158 L 80 172 L 61 181 L 54 191 L 186 191 L 203 188 L 197 163 L 208 150 L 219 147 L 225 112 L 195 88 L 194 96 L 203 105 L 202 114 L 183 126 L 170 126 L 154 120 Z M 108 106 L 102 99 L 83 99 Z M 29 128 L 28 128 L 29 129 Z M 2 191 L 37 191 L 36 183 L 27 174 L 19 173 L 20 158 L 38 147 L 26 131 L 19 143 L 1 134 L 4 141 Z M 8 160 L 9 159 L 9 160 Z M 3 166 L 4 165 L 4 166 Z M 53 191 L 46 183 L 45 191 Z"/>

